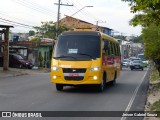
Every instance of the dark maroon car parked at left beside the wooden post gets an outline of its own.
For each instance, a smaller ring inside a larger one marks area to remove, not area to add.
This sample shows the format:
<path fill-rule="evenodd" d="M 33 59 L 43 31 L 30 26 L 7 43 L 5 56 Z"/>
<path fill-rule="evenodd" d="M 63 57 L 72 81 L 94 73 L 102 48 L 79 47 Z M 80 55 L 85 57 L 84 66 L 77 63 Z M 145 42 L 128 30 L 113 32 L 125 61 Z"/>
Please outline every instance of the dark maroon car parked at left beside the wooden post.
<path fill-rule="evenodd" d="M 9 66 L 32 69 L 33 64 L 18 54 L 9 54 Z"/>

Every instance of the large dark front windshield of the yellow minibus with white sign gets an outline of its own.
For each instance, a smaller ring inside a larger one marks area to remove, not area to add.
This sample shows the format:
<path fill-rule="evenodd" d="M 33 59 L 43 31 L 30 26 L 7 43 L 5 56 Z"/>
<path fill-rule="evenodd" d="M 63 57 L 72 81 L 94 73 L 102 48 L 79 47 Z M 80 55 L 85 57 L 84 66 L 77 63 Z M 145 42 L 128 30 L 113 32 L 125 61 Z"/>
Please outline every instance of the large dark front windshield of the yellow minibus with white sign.
<path fill-rule="evenodd" d="M 53 57 L 60 60 L 100 58 L 100 37 L 93 35 L 60 36 Z"/>

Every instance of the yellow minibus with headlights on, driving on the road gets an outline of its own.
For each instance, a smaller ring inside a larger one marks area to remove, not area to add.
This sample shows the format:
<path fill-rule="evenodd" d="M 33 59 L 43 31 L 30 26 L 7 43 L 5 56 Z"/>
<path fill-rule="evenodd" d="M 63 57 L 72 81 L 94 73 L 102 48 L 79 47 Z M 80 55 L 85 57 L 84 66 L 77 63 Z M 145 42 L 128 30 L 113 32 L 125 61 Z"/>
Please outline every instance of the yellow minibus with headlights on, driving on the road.
<path fill-rule="evenodd" d="M 95 85 L 103 91 L 106 83 L 116 83 L 120 75 L 119 42 L 97 31 L 61 33 L 54 46 L 51 82 L 62 91 L 64 86 Z"/>

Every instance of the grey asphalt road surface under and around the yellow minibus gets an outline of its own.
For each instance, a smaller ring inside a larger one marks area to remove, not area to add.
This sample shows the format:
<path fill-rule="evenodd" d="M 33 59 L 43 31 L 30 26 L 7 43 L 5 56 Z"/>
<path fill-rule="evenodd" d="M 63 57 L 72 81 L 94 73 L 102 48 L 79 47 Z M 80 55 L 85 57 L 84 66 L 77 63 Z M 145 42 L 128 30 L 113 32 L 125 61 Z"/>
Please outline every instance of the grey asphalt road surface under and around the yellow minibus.
<path fill-rule="evenodd" d="M 56 91 L 55 85 L 50 83 L 49 73 L 0 78 L 0 111 L 141 111 L 144 109 L 148 88 L 146 73 L 147 68 L 144 71 L 130 71 L 124 68 L 117 79 L 117 84 L 107 85 L 103 93 L 98 93 L 93 88 L 75 87 L 65 87 L 62 92 Z M 18 118 L 12 119 L 17 120 Z M 28 118 L 23 119 L 28 120 Z M 96 117 L 93 112 L 91 117 L 32 119 L 127 120 L 128 118 Z"/>

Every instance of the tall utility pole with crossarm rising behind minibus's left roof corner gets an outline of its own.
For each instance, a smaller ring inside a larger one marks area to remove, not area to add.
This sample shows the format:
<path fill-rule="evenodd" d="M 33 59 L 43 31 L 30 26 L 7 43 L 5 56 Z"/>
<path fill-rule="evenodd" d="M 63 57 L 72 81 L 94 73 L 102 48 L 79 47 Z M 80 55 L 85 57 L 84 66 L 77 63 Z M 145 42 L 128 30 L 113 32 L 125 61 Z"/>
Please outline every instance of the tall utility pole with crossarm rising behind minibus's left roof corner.
<path fill-rule="evenodd" d="M 57 38 L 58 34 L 59 34 L 58 29 L 59 29 L 60 7 L 61 7 L 61 5 L 63 5 L 63 6 L 73 6 L 73 4 L 72 5 L 62 4 L 61 0 L 58 0 L 58 3 L 54 3 L 54 4 L 58 5 L 57 24 L 56 24 L 56 38 Z"/>

